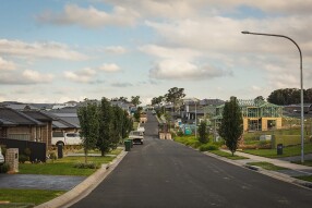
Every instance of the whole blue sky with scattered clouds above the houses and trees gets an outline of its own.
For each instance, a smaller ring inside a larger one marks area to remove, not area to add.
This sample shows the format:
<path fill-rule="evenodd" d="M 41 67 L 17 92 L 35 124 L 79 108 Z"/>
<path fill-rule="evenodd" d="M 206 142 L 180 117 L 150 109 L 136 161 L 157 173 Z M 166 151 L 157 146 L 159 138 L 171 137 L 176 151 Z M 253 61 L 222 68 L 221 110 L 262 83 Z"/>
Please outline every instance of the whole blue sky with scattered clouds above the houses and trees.
<path fill-rule="evenodd" d="M 312 87 L 312 0 L 10 0 L 0 7 L 0 101 L 64 102 L 182 87 L 253 99 Z"/>

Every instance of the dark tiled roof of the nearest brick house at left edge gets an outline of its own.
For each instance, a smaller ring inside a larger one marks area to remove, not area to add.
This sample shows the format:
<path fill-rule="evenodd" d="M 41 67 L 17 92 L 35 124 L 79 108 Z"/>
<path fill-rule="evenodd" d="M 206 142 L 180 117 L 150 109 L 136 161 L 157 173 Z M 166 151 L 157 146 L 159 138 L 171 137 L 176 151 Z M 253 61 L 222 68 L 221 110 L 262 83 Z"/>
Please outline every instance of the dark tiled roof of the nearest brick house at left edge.
<path fill-rule="evenodd" d="M 23 112 L 11 108 L 0 107 L 0 118 L 12 123 L 20 125 L 44 125 L 40 121 L 37 121 Z"/>

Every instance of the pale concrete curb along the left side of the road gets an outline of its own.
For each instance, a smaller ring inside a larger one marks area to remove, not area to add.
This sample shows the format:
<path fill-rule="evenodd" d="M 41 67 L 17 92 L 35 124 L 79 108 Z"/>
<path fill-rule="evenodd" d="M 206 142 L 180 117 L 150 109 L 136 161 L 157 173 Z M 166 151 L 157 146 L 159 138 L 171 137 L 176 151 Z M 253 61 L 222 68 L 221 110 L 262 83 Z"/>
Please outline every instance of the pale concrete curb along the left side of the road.
<path fill-rule="evenodd" d="M 87 196 L 96 186 L 98 186 L 98 184 L 118 166 L 118 163 L 127 154 L 128 152 L 124 150 L 121 151 L 110 163 L 103 164 L 99 170 L 89 175 L 86 180 L 84 180 L 71 191 L 57 198 L 53 198 L 52 200 L 38 205 L 35 208 L 70 207 L 71 205 Z"/>

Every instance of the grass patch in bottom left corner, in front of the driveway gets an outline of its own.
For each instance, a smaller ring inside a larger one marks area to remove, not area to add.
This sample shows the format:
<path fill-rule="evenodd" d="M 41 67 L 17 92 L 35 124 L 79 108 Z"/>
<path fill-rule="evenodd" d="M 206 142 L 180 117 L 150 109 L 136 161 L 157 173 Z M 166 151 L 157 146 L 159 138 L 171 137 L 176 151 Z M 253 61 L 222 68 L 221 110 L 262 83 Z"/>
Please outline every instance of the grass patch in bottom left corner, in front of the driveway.
<path fill-rule="evenodd" d="M 24 204 L 39 205 L 62 195 L 63 191 L 45 191 L 45 189 L 7 189 L 0 188 L 0 200 L 19 203 L 17 205 L 3 205 L 3 207 L 22 207 Z M 2 205 L 0 205 L 2 207 Z M 26 207 L 26 206 L 23 206 Z M 33 206 L 32 206 L 33 207 Z"/>

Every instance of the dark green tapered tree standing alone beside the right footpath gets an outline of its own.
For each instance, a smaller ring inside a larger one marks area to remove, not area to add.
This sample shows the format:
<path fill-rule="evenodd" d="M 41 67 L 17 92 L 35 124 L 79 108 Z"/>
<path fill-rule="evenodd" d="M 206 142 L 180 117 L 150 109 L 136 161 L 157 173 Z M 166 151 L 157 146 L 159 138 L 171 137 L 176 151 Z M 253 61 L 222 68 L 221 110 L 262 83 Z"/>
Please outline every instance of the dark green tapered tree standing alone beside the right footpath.
<path fill-rule="evenodd" d="M 218 130 L 219 135 L 225 139 L 226 146 L 232 152 L 238 148 L 238 143 L 243 132 L 242 113 L 237 98 L 231 97 L 225 103 L 221 123 Z"/>

